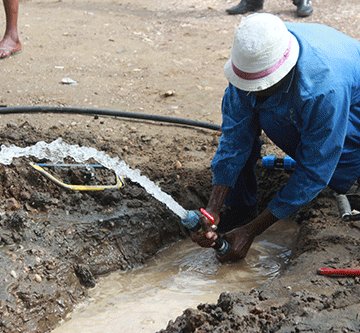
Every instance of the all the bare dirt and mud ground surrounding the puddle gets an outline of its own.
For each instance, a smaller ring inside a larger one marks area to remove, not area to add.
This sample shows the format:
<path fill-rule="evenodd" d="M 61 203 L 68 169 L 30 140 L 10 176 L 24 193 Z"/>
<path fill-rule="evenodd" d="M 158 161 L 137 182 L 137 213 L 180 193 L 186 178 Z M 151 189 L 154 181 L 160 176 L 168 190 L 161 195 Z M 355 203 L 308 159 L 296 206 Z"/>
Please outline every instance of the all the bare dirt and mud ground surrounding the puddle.
<path fill-rule="evenodd" d="M 71 106 L 221 123 L 222 68 L 241 16 L 237 1 L 21 1 L 22 53 L 1 61 L 2 107 Z M 360 40 L 358 0 L 314 0 L 300 19 L 290 0 L 265 1 L 285 21 L 330 25 Z M 0 21 L 5 25 L 4 16 Z M 65 79 L 76 81 L 66 84 Z M 1 109 L 0 109 L 1 111 Z M 1 144 L 58 137 L 139 168 L 186 209 L 206 203 L 218 131 L 114 117 L 0 115 Z M 263 154 L 276 151 L 264 138 Z M 281 152 L 277 152 L 281 153 Z M 100 275 L 142 264 L 185 231 L 142 188 L 69 192 L 19 159 L 0 165 L 0 330 L 49 332 Z M 36 161 L 35 162 L 42 162 Z M 72 161 L 66 161 L 72 162 Z M 260 208 L 289 177 L 258 168 Z M 87 170 L 64 169 L 85 182 Z M 100 170 L 95 182 L 113 175 Z M 295 214 L 301 223 L 289 267 L 248 293 L 219 296 L 174 318 L 163 332 L 358 332 L 358 278 L 316 275 L 359 266 L 358 222 L 344 222 L 330 191 Z"/>

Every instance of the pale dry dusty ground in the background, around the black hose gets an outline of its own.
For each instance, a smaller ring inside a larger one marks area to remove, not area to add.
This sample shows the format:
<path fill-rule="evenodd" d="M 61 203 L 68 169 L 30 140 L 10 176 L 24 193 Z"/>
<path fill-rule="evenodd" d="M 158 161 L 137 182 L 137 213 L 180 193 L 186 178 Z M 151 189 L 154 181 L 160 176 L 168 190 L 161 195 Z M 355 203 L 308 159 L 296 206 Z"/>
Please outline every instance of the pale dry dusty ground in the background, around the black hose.
<path fill-rule="evenodd" d="M 220 124 L 227 86 L 222 68 L 242 18 L 225 9 L 236 3 L 21 1 L 23 52 L 1 61 L 0 104 L 125 110 Z M 287 21 L 325 23 L 360 39 L 358 0 L 315 0 L 313 7 L 313 15 L 305 19 L 296 17 L 291 0 L 265 1 L 263 11 Z M 4 17 L 1 22 L 4 26 Z M 63 85 L 63 78 L 78 84 Z M 173 95 L 165 97 L 169 91 Z M 84 116 L 9 115 L 0 120 L 70 126 L 105 139 L 126 137 L 130 127 L 139 135 L 165 134 L 164 141 L 194 134 L 112 119 L 98 126 Z"/>

